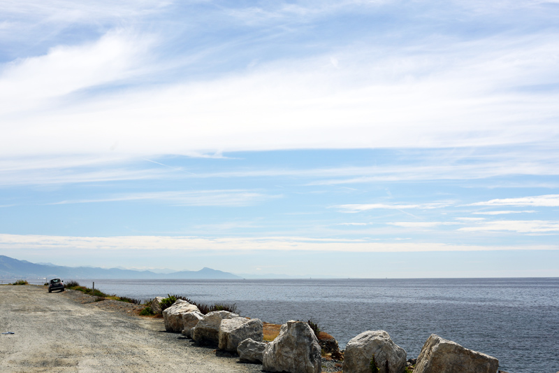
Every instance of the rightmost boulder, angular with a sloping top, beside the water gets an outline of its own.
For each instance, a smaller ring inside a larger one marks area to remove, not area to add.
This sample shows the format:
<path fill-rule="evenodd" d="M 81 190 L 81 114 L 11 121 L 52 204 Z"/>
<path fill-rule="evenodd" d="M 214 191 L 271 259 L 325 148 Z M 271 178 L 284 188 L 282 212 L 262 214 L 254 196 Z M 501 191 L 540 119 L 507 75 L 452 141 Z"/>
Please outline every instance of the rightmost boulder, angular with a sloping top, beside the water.
<path fill-rule="evenodd" d="M 499 360 L 430 335 L 417 358 L 414 373 L 497 373 Z"/>

